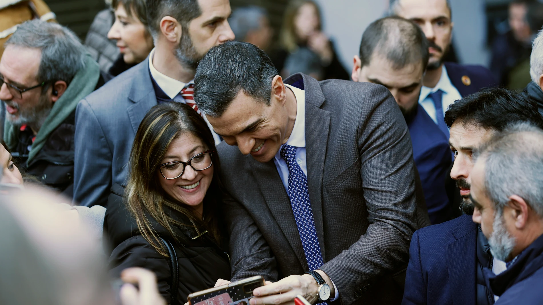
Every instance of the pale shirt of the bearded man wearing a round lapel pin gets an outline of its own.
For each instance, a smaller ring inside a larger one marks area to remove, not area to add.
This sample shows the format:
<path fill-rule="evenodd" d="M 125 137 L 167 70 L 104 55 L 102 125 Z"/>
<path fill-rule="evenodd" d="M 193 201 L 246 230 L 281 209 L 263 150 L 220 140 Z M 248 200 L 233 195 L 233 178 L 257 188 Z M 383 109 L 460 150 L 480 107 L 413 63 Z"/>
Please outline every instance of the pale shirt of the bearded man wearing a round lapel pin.
<path fill-rule="evenodd" d="M 424 108 L 426 113 L 430 115 L 430 118 L 432 118 L 435 124 L 438 124 L 438 120 L 435 115 L 435 105 L 434 101 L 428 95 L 436 92 L 439 89 L 443 91 L 441 102 L 443 105 L 443 114 L 445 115 L 445 112 L 447 111 L 449 105 L 454 103 L 454 101 L 456 100 L 462 99 L 462 95 L 460 95 L 458 89 L 456 89 L 456 87 L 452 85 L 451 79 L 449 79 L 449 74 L 447 74 L 447 68 L 445 68 L 445 65 L 443 65 L 443 69 L 441 70 L 441 76 L 435 87 L 428 88 L 422 86 L 422 88 L 420 89 L 419 103 L 422 108 Z"/>

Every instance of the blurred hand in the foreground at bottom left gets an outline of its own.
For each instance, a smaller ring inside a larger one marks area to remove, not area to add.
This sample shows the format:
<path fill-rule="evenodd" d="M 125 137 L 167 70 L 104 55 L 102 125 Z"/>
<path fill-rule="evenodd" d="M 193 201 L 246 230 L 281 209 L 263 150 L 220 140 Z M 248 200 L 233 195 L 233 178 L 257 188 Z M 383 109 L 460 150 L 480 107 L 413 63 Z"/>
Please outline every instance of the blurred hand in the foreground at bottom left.
<path fill-rule="evenodd" d="M 121 279 L 125 282 L 119 293 L 122 305 L 166 305 L 153 272 L 139 267 L 127 268 L 121 272 Z"/>

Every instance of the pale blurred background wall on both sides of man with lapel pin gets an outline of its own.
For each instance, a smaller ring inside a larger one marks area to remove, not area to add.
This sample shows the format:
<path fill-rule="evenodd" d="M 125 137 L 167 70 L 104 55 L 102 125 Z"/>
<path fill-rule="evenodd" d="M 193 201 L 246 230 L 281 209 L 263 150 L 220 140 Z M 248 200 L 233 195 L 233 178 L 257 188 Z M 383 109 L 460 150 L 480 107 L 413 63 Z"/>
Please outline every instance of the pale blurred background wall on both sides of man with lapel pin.
<path fill-rule="evenodd" d="M 389 0 L 316 0 L 323 11 L 324 30 L 334 42 L 340 61 L 348 72 L 352 56 L 358 54 L 362 34 L 368 25 L 384 16 Z M 487 66 L 486 16 L 484 0 L 450 0 L 454 22 L 453 40 L 459 61 Z"/>

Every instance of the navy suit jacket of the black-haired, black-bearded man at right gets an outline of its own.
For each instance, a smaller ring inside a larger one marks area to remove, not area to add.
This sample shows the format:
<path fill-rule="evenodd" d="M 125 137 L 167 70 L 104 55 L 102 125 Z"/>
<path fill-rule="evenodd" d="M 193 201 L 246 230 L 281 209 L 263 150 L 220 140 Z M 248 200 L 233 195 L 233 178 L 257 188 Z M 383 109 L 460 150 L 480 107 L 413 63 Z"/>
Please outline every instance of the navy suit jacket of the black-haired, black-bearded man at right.
<path fill-rule="evenodd" d="M 476 246 L 468 215 L 415 231 L 402 305 L 476 305 Z"/>

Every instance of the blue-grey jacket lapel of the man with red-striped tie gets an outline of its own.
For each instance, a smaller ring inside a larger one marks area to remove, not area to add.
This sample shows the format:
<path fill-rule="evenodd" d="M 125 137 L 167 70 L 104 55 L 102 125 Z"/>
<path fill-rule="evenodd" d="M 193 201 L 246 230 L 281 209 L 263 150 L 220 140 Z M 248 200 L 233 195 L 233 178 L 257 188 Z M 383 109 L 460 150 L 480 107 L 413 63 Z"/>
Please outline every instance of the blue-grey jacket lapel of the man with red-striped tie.
<path fill-rule="evenodd" d="M 128 117 L 132 129 L 136 133 L 144 116 L 151 107 L 156 105 L 156 95 L 149 72 L 149 56 L 147 56 L 146 60 L 138 64 L 137 67 L 134 67 L 134 69 L 133 73 L 142 75 L 142 77 L 134 78 L 128 95 L 128 99 L 134 102 L 134 105 L 128 107 Z"/>

